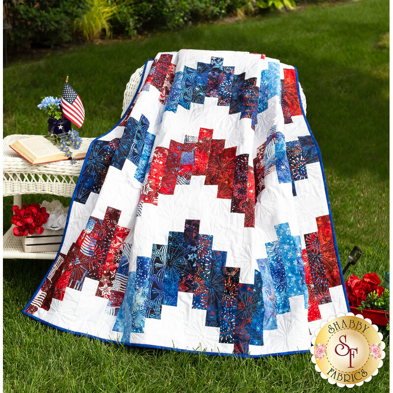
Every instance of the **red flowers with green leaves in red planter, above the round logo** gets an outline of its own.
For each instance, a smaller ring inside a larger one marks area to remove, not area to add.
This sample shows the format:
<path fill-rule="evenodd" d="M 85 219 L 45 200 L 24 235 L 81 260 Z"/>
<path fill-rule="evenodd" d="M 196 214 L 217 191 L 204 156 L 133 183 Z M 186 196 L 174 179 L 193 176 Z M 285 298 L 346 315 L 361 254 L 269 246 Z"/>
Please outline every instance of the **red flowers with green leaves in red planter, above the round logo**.
<path fill-rule="evenodd" d="M 365 274 L 362 280 L 352 275 L 345 281 L 345 288 L 354 314 L 362 314 L 375 325 L 387 326 L 389 329 L 389 290 L 380 283 L 375 273 Z"/>

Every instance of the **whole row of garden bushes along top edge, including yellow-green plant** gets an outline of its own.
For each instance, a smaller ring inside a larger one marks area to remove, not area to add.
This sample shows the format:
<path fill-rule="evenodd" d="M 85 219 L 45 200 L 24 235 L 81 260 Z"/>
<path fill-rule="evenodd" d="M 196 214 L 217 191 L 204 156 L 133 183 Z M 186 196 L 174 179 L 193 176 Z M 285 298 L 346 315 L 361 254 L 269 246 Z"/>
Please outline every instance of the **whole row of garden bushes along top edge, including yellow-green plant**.
<path fill-rule="evenodd" d="M 135 36 L 143 29 L 178 28 L 241 9 L 293 7 L 294 0 L 4 0 L 10 46 L 53 47 L 79 34 L 90 41 L 112 31 Z M 253 10 L 251 12 L 250 10 Z"/>

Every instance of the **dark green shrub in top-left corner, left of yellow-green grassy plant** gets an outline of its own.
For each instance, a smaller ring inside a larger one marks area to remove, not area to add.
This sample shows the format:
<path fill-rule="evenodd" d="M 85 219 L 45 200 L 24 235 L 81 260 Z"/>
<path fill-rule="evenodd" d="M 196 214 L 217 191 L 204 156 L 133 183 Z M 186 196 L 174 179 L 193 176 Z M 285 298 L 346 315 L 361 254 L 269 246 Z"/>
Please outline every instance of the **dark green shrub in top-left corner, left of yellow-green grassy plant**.
<path fill-rule="evenodd" d="M 86 4 L 80 0 L 4 0 L 4 16 L 12 26 L 9 45 L 58 45 L 72 40 L 74 20 Z"/>

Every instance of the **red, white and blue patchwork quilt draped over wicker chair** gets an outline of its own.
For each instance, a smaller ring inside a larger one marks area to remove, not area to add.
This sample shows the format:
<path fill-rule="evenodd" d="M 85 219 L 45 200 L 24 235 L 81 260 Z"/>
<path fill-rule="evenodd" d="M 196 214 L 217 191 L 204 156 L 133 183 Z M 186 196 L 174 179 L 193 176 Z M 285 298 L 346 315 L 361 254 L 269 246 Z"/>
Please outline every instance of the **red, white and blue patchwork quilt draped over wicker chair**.
<path fill-rule="evenodd" d="M 348 310 L 296 69 L 182 50 L 146 62 L 94 140 L 60 251 L 24 312 L 127 345 L 305 352 Z"/>

